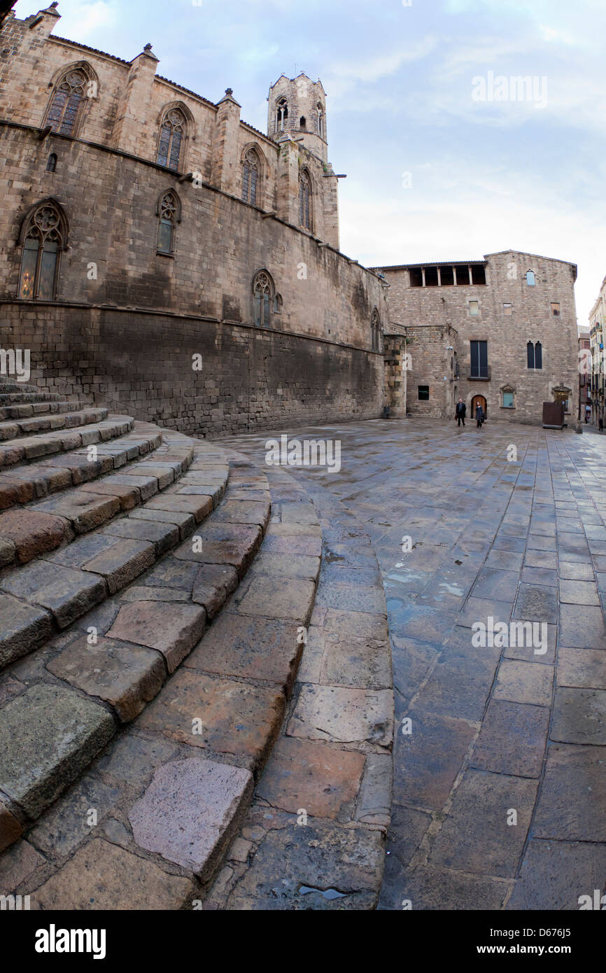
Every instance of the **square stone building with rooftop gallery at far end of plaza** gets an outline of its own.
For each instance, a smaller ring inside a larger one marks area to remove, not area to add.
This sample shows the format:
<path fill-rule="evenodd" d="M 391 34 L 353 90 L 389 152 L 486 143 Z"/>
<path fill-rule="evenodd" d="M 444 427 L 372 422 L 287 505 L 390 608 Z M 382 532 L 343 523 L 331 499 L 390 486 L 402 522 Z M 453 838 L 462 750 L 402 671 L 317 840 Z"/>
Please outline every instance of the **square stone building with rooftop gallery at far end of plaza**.
<path fill-rule="evenodd" d="M 394 414 L 542 421 L 579 399 L 577 268 L 507 250 L 483 261 L 382 268 L 389 288 L 386 401 Z M 397 365 L 396 365 L 397 363 Z M 397 373 L 397 374 L 396 374 Z"/>

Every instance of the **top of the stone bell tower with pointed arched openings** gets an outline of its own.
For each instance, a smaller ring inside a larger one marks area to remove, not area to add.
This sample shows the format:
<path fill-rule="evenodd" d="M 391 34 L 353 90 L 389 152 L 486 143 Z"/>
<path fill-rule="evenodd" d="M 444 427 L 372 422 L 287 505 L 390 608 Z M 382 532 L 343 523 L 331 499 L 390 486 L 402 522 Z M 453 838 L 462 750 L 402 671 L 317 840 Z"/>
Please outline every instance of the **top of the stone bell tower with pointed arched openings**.
<path fill-rule="evenodd" d="M 327 162 L 326 91 L 321 81 L 311 81 L 303 71 L 297 78 L 283 74 L 269 89 L 267 103 L 269 138 L 278 142 L 289 135 Z"/>

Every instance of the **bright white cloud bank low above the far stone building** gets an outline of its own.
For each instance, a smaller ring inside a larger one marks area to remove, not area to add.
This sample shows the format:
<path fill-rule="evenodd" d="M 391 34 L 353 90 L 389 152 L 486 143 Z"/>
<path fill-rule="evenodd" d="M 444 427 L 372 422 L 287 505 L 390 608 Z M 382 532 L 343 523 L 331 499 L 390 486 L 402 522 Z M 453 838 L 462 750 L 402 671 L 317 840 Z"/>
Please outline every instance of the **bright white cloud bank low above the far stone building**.
<path fill-rule="evenodd" d="M 367 183 L 347 181 L 339 217 L 348 256 L 376 267 L 479 260 L 511 247 L 570 261 L 579 265 L 577 314 L 586 323 L 606 270 L 594 245 L 603 233 L 602 214 L 565 203 L 556 185 L 537 198 L 523 173 L 454 160 L 414 167 L 410 190 L 383 181 L 369 192 Z"/>

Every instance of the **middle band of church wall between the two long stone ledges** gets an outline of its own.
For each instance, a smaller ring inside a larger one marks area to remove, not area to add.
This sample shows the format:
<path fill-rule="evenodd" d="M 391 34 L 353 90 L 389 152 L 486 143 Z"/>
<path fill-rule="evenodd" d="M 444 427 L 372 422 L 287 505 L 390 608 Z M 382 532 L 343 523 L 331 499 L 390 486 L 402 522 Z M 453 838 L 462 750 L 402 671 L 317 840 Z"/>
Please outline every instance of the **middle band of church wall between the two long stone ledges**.
<path fill-rule="evenodd" d="M 51 143 L 51 144 L 49 144 Z M 179 183 L 162 167 L 59 135 L 0 124 L 0 297 L 18 294 L 23 219 L 56 198 L 68 223 L 56 298 L 253 323 L 253 278 L 268 270 L 282 297 L 271 327 L 370 349 L 371 318 L 387 318 L 376 275 L 339 252 L 212 187 Z M 50 149 L 56 170 L 46 171 Z M 157 251 L 158 204 L 180 200 L 171 256 Z M 90 268 L 90 265 L 94 268 Z M 96 278 L 94 276 L 96 274 Z M 142 336 L 145 339 L 145 336 Z"/>

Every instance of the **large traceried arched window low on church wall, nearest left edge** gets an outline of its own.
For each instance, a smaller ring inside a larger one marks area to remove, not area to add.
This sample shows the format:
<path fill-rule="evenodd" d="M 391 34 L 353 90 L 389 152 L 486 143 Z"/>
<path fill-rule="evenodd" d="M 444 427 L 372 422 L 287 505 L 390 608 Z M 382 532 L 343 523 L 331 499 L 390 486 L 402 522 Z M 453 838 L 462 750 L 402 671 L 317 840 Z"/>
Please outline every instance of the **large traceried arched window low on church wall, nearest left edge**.
<path fill-rule="evenodd" d="M 21 230 L 21 267 L 18 297 L 54 301 L 61 250 L 67 239 L 67 222 L 53 199 L 39 203 Z"/>

